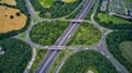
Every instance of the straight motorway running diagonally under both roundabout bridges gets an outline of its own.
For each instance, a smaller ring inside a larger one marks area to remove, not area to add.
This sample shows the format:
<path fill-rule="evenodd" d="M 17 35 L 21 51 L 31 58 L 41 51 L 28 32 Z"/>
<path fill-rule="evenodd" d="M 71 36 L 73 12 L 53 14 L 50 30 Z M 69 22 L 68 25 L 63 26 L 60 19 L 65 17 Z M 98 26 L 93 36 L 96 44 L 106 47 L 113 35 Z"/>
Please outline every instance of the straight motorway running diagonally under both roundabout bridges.
<path fill-rule="evenodd" d="M 76 20 L 82 20 L 87 15 L 87 13 L 90 10 L 90 7 L 92 5 L 94 0 L 88 0 L 86 5 L 81 9 L 79 14 L 76 16 Z M 68 41 L 69 37 L 75 33 L 75 31 L 80 25 L 79 22 L 72 22 L 69 26 L 66 28 L 64 34 L 58 38 L 58 40 L 54 44 L 55 46 L 65 46 Z M 41 62 L 38 68 L 36 69 L 35 73 L 47 73 L 47 70 L 54 62 L 57 54 L 61 52 L 61 50 L 48 50 L 46 57 Z"/>

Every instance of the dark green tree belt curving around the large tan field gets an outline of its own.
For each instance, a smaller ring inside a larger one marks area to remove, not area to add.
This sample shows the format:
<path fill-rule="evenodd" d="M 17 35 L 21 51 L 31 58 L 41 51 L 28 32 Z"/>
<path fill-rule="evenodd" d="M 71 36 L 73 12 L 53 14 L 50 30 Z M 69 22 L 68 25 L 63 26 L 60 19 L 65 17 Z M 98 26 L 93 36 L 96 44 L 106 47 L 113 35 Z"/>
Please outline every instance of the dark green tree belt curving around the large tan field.
<path fill-rule="evenodd" d="M 18 34 L 24 32 L 29 27 L 29 25 L 30 25 L 30 14 L 29 14 L 28 8 L 25 7 L 24 0 L 15 0 L 15 1 L 16 1 L 16 5 L 15 7 L 14 5 L 9 5 L 9 4 L 3 4 L 3 5 L 19 9 L 22 13 L 24 13 L 26 15 L 26 17 L 28 17 L 26 25 L 22 29 L 20 29 L 20 31 L 12 31 L 12 32 L 8 32 L 8 33 L 0 33 L 0 40 L 3 39 L 3 38 L 8 38 L 10 36 L 14 36 L 14 35 L 18 35 Z"/>

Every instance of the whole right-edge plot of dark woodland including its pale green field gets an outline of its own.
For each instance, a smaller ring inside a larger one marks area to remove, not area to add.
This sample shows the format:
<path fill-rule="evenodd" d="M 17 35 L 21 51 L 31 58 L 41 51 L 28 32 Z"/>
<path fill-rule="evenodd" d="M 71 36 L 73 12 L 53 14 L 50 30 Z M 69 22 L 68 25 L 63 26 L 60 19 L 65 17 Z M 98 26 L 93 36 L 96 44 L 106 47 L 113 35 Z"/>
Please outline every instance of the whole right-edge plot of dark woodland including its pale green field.
<path fill-rule="evenodd" d="M 132 73 L 132 31 L 113 32 L 107 36 L 106 40 L 108 50 Z"/>

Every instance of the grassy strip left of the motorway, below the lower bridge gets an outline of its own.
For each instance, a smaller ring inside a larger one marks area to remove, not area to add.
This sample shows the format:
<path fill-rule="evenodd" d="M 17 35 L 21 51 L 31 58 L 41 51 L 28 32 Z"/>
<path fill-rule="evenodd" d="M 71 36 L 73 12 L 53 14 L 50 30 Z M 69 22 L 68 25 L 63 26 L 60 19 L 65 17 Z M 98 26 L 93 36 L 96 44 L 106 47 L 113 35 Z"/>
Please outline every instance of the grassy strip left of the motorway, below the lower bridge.
<path fill-rule="evenodd" d="M 36 58 L 35 61 L 30 70 L 30 73 L 34 73 L 35 70 L 37 69 L 38 64 L 41 63 L 41 61 L 44 59 L 45 54 L 46 54 L 47 50 L 46 49 L 36 49 Z"/>

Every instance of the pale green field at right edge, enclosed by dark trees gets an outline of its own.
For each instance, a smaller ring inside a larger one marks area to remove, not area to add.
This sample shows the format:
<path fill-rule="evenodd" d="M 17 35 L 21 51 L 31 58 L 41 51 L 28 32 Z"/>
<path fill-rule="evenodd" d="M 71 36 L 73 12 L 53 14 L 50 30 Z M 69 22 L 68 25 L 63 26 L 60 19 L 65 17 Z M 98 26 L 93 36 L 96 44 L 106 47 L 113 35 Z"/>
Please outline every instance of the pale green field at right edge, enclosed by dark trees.
<path fill-rule="evenodd" d="M 132 41 L 120 44 L 121 54 L 132 64 Z"/>

